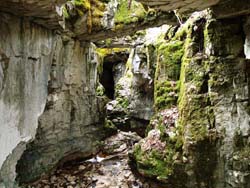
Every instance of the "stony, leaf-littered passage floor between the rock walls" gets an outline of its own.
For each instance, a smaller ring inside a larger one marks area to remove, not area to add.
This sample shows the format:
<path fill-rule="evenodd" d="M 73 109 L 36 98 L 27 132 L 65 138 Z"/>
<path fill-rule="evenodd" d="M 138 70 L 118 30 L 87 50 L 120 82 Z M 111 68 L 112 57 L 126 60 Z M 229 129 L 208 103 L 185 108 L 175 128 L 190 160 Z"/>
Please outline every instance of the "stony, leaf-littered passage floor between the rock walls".
<path fill-rule="evenodd" d="M 104 141 L 101 153 L 89 160 L 65 163 L 28 188 L 167 188 L 133 173 L 128 154 L 141 138 L 118 132 Z"/>

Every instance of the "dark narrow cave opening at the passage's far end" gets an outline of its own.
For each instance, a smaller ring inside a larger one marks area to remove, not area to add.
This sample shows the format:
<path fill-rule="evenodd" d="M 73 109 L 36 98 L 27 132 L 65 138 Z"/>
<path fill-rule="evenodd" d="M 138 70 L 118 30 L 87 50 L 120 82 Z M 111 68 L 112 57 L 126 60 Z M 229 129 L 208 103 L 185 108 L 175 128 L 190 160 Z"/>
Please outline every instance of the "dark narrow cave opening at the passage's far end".
<path fill-rule="evenodd" d="M 103 58 L 103 71 L 100 83 L 105 88 L 104 94 L 109 99 L 115 98 L 115 86 L 125 72 L 129 54 L 127 51 L 112 53 Z"/>

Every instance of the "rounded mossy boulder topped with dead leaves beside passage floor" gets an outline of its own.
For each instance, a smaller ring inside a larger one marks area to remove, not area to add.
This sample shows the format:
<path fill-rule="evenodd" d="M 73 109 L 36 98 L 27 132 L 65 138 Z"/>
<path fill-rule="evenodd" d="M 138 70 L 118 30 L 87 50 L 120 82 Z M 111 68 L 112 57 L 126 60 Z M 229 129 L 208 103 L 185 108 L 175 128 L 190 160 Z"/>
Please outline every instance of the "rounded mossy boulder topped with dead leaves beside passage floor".
<path fill-rule="evenodd" d="M 139 172 L 147 177 L 168 182 L 182 164 L 182 129 L 176 127 L 176 107 L 161 110 L 151 119 L 147 137 L 134 147 L 133 155 Z"/>

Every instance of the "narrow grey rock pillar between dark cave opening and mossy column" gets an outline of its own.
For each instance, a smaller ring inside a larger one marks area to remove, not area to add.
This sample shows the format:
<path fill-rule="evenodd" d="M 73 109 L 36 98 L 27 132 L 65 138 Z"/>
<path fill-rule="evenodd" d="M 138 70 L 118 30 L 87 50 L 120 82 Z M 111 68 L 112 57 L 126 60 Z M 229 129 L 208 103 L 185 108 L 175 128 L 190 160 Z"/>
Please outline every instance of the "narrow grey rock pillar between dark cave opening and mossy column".
<path fill-rule="evenodd" d="M 153 46 L 141 45 L 135 48 L 131 70 L 132 92 L 129 115 L 142 120 L 150 120 L 154 114 L 153 91 L 154 91 L 154 48 Z M 143 103 L 142 103 L 143 101 Z M 145 126 L 145 125 L 144 125 Z"/>

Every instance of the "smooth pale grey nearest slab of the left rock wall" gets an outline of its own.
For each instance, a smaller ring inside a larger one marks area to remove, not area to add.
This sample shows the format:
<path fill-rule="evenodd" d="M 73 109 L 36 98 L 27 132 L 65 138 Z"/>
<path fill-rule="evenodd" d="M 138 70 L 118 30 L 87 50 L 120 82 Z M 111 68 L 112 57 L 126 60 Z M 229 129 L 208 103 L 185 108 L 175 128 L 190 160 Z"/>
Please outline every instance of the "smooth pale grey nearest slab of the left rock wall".
<path fill-rule="evenodd" d="M 1 14 L 0 24 L 0 166 L 1 176 L 3 171 L 14 176 L 16 160 L 35 136 L 45 106 L 57 37 L 8 14 Z"/>

